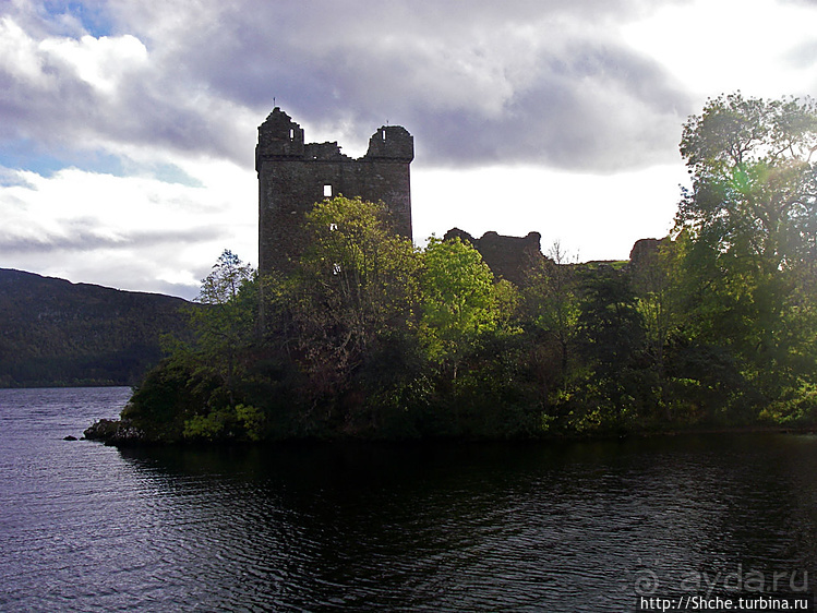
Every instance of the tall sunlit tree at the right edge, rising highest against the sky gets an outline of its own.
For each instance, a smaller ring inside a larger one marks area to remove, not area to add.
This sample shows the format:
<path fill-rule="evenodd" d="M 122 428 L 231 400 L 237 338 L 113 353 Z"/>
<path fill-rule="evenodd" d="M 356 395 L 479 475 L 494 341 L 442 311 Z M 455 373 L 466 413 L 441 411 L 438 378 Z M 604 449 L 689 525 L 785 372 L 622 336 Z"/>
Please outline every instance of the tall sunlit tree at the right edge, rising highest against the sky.
<path fill-rule="evenodd" d="M 692 175 L 675 223 L 698 337 L 726 347 L 767 401 L 814 373 L 817 106 L 740 93 L 708 100 L 684 125 Z M 805 342 L 804 342 L 805 340 Z M 812 357 L 802 360 L 803 354 Z M 804 370 L 805 369 L 805 370 Z"/>

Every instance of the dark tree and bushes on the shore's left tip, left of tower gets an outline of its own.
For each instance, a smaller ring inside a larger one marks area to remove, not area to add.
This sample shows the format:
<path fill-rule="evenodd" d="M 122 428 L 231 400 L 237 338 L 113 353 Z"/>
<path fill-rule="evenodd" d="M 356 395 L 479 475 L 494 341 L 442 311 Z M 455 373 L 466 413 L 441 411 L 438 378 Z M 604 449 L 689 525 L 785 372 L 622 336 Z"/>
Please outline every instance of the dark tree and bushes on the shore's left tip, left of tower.
<path fill-rule="evenodd" d="M 256 283 L 225 250 L 188 309 L 191 339 L 167 339 L 170 357 L 145 376 L 122 418 L 145 441 L 262 435 L 263 416 L 238 398 L 254 339 Z"/>

